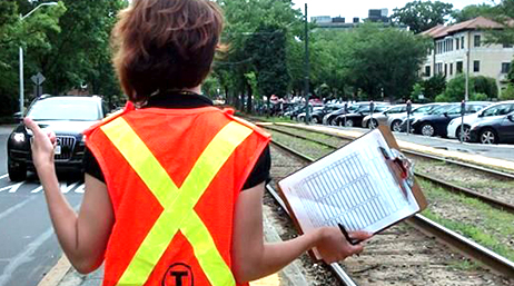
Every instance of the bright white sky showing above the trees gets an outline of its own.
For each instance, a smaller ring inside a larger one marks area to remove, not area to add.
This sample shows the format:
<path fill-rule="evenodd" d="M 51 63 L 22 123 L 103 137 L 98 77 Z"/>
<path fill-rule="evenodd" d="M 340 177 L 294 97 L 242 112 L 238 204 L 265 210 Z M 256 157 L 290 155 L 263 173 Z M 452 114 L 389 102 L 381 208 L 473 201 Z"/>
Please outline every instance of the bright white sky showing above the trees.
<path fill-rule="evenodd" d="M 312 16 L 332 16 L 367 18 L 368 9 L 387 8 L 389 16 L 394 8 L 403 8 L 413 0 L 293 0 L 295 8 L 304 11 L 305 3 L 308 6 L 308 18 Z M 468 4 L 492 3 L 492 0 L 443 0 L 452 3 L 454 9 L 462 9 Z"/>

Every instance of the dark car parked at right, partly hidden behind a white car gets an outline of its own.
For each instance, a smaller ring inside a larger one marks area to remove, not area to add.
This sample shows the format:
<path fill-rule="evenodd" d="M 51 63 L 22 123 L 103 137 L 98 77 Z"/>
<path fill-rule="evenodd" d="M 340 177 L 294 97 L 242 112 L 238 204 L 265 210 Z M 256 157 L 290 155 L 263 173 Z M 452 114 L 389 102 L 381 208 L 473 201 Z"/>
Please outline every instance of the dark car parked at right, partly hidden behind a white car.
<path fill-rule="evenodd" d="M 467 102 L 465 114 L 474 114 L 490 102 Z M 424 136 L 446 137 L 446 128 L 452 119 L 461 117 L 461 103 L 449 103 L 414 120 L 412 131 Z"/>

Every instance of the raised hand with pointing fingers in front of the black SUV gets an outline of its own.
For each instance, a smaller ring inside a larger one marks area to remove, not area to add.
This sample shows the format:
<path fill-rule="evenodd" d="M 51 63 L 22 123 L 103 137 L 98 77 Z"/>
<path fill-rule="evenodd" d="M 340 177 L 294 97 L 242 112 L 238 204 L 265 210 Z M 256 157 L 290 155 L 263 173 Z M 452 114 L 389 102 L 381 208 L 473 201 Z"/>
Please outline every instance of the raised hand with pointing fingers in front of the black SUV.
<path fill-rule="evenodd" d="M 56 147 L 56 134 L 52 131 L 45 132 L 32 119 L 24 118 L 24 126 L 32 134 L 31 148 L 32 161 L 36 169 L 53 167 L 53 148 Z"/>

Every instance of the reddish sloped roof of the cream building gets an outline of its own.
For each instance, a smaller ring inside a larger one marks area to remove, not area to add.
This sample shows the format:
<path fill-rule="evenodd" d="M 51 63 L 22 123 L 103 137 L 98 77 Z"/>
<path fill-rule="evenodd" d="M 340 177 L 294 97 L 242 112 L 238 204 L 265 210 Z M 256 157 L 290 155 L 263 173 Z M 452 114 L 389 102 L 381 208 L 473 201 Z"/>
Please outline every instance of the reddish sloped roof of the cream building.
<path fill-rule="evenodd" d="M 459 31 L 502 28 L 503 24 L 481 16 L 452 26 L 437 24 L 432 29 L 421 32 L 421 34 L 426 34 L 432 38 L 444 38 Z"/>

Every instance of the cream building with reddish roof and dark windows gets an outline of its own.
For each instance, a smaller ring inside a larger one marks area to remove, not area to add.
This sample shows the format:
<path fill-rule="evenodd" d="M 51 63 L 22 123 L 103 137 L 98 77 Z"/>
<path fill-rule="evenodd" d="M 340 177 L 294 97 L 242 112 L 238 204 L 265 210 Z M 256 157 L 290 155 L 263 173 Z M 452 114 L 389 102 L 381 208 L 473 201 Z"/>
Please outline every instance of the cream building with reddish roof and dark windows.
<path fill-rule="evenodd" d="M 427 79 L 444 75 L 449 80 L 456 75 L 486 76 L 496 79 L 498 88 L 505 81 L 514 56 L 512 46 L 488 45 L 485 29 L 503 29 L 502 24 L 477 17 L 452 24 L 436 26 L 421 34 L 434 40 L 421 75 Z"/>

